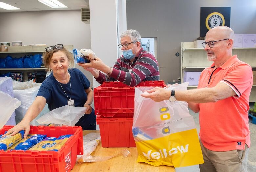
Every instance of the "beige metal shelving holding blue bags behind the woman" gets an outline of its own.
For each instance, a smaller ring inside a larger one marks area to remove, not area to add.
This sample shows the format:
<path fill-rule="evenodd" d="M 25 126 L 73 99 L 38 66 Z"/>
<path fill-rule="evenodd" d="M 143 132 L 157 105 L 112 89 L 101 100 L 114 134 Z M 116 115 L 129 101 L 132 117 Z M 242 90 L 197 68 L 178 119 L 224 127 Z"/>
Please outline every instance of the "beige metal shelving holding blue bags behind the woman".
<path fill-rule="evenodd" d="M 70 53 L 73 51 L 73 45 L 63 45 Z M 14 57 L 16 56 L 24 56 L 26 54 L 35 54 L 35 53 L 44 53 L 45 48 L 49 47 L 49 45 L 45 46 L 10 46 L 8 47 L 8 51 L 0 52 L 0 58 L 5 58 L 6 55 L 11 54 Z M 24 81 L 28 80 L 27 73 L 35 72 L 35 70 L 46 70 L 44 66 L 41 68 L 0 68 L 0 71 L 5 72 L 17 72 L 19 70 L 23 71 Z"/>

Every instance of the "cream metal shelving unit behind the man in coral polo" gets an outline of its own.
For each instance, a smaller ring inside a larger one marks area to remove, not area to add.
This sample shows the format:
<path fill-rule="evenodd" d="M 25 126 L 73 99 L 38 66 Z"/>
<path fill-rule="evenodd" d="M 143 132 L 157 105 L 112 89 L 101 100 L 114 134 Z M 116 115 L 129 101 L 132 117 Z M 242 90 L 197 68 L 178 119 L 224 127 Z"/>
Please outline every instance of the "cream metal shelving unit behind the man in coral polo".
<path fill-rule="evenodd" d="M 233 48 L 232 53 L 256 70 L 256 48 Z M 193 42 L 181 42 L 181 83 L 184 82 L 184 72 L 202 72 L 211 64 L 204 48 L 194 48 Z M 197 86 L 188 86 L 188 89 L 196 88 Z M 256 85 L 252 86 L 250 102 L 256 102 Z"/>

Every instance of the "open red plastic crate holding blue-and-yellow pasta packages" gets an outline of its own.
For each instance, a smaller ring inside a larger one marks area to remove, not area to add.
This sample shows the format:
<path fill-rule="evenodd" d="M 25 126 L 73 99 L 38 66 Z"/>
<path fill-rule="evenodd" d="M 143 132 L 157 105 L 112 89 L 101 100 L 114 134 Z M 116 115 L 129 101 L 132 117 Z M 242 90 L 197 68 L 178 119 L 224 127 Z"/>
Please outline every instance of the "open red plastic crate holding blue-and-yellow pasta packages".
<path fill-rule="evenodd" d="M 13 126 L 4 126 L 4 134 Z M 0 150 L 0 172 L 68 172 L 74 167 L 77 155 L 83 155 L 83 131 L 80 126 L 30 126 L 31 134 L 59 137 L 73 134 L 58 151 Z"/>

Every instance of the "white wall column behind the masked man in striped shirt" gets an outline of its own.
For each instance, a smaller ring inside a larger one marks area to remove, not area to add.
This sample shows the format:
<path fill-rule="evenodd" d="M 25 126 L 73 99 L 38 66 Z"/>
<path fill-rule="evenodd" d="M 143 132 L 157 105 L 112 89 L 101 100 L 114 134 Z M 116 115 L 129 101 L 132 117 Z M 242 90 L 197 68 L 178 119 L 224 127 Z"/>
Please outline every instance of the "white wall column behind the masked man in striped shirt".
<path fill-rule="evenodd" d="M 118 34 L 126 30 L 126 10 L 124 9 L 126 9 L 124 0 L 90 0 L 92 50 L 110 67 L 118 58 Z M 94 79 L 93 86 L 99 85 Z"/>

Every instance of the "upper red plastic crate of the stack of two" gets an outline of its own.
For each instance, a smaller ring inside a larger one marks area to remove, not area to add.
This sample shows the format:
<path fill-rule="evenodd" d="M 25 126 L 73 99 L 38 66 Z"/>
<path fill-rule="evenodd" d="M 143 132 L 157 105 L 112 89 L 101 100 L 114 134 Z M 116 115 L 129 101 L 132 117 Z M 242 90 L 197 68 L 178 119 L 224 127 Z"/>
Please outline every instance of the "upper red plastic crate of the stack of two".
<path fill-rule="evenodd" d="M 136 87 L 165 87 L 164 81 L 144 81 Z M 93 89 L 95 115 L 116 118 L 133 117 L 134 110 L 134 87 L 127 86 L 122 82 L 104 82 L 101 86 Z"/>

